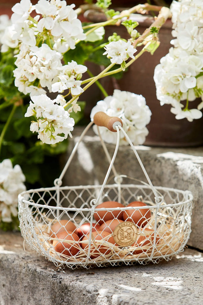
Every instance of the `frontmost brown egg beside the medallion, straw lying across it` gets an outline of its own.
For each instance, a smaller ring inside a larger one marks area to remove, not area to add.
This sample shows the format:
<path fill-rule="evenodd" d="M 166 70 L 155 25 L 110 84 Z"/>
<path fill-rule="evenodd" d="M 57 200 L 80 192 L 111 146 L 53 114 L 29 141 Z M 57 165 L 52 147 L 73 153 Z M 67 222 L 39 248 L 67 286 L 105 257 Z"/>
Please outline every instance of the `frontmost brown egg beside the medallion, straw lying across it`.
<path fill-rule="evenodd" d="M 91 238 L 91 241 L 96 244 L 96 247 L 94 246 L 94 244 L 92 243 L 92 249 L 90 251 L 90 257 L 91 258 L 95 258 L 95 257 L 98 257 L 99 255 L 101 255 L 101 253 L 103 254 L 109 254 L 111 252 L 111 250 L 107 249 L 107 246 L 105 245 L 100 245 L 97 241 L 100 241 L 102 239 L 104 239 L 106 236 L 109 235 L 109 238 L 108 239 L 105 239 L 106 242 L 110 242 L 112 243 L 113 245 L 116 245 L 116 242 L 114 241 L 114 238 L 113 236 L 111 236 L 109 234 L 109 232 L 105 232 L 105 231 L 98 231 L 98 232 L 92 232 L 92 238 Z M 88 246 L 89 246 L 89 239 L 90 238 L 90 234 L 87 234 L 87 236 L 85 236 L 83 239 L 82 239 L 82 242 L 81 242 L 81 246 L 84 250 L 88 250 Z"/>

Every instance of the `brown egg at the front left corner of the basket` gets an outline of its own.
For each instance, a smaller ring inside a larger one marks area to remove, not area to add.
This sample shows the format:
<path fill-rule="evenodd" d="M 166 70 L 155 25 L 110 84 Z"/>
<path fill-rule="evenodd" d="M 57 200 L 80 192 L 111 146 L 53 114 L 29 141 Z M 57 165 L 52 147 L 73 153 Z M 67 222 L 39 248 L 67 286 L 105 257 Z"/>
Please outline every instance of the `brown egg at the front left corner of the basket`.
<path fill-rule="evenodd" d="M 78 243 L 79 237 L 75 233 L 62 231 L 56 234 L 56 238 L 62 239 L 62 241 L 53 240 L 53 247 L 56 252 L 67 256 L 73 256 L 80 251 L 80 244 Z M 74 241 L 74 243 L 69 241 Z"/>

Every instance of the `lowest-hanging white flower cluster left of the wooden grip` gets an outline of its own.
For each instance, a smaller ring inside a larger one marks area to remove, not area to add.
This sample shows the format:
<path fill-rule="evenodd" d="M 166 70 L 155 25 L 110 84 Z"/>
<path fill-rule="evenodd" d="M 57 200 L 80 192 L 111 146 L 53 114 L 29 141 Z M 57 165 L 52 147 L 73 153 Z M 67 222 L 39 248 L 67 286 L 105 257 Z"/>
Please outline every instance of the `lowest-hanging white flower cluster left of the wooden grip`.
<path fill-rule="evenodd" d="M 30 106 L 27 108 L 25 117 L 36 116 L 37 121 L 32 121 L 30 130 L 38 132 L 38 138 L 47 144 L 62 142 L 71 136 L 74 120 L 69 113 L 61 106 L 64 99 L 58 95 L 55 100 L 47 95 L 37 95 L 31 97 Z M 60 105 L 58 105 L 60 104 Z"/>

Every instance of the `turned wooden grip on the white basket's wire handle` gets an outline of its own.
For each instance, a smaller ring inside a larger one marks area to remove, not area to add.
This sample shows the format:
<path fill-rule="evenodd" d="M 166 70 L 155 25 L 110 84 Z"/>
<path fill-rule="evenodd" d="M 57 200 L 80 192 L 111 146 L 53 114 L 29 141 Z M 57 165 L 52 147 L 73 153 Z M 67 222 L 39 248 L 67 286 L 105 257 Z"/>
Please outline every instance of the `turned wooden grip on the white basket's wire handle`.
<path fill-rule="evenodd" d="M 119 117 L 109 117 L 105 112 L 99 111 L 94 115 L 94 124 L 97 126 L 107 127 L 110 131 L 116 132 L 113 128 L 115 122 L 120 122 L 123 126 L 122 120 Z"/>

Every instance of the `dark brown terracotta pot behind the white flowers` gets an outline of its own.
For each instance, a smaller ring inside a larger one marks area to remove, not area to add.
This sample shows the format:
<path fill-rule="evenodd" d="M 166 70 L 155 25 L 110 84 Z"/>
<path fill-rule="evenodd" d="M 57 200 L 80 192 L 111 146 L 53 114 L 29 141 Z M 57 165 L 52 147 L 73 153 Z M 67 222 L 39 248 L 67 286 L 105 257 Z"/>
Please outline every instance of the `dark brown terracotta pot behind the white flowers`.
<path fill-rule="evenodd" d="M 92 16 L 91 16 L 92 18 Z M 137 15 L 139 26 L 136 28 L 141 34 L 151 25 L 154 18 Z M 112 77 L 103 78 L 102 84 L 109 95 L 113 90 L 130 91 L 141 94 L 145 97 L 152 116 L 147 125 L 149 135 L 146 138 L 145 145 L 152 146 L 171 146 L 185 147 L 198 146 L 203 144 L 203 118 L 189 122 L 187 119 L 176 120 L 175 115 L 170 112 L 170 105 L 160 106 L 156 97 L 156 87 L 153 79 L 155 66 L 160 63 L 160 59 L 169 52 L 172 47 L 170 41 L 172 30 L 171 20 L 167 20 L 159 31 L 160 46 L 151 56 L 149 52 L 144 53 L 136 60 L 128 70 L 123 74 L 120 80 Z M 106 27 L 106 37 L 113 32 L 119 34 L 122 38 L 129 38 L 126 29 L 123 26 Z M 137 48 L 139 50 L 139 48 Z M 192 108 L 196 108 L 198 101 L 191 102 Z"/>

